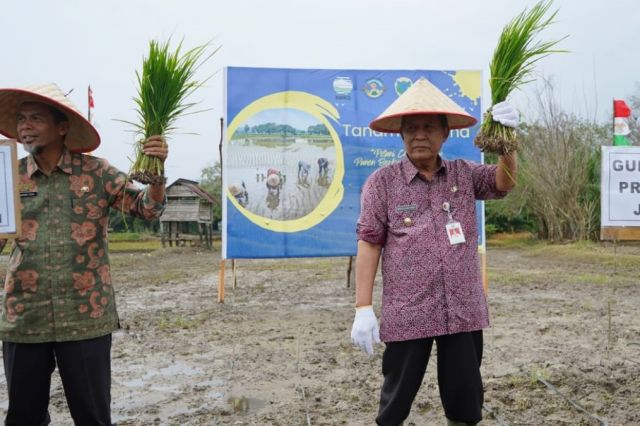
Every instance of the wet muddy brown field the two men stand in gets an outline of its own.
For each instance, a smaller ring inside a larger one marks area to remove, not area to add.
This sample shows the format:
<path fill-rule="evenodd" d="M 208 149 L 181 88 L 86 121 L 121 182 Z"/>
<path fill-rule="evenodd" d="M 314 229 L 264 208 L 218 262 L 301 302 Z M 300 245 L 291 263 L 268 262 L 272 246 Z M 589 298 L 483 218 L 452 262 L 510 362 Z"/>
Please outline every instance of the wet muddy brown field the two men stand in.
<path fill-rule="evenodd" d="M 347 259 L 239 261 L 237 287 L 228 268 L 219 304 L 219 256 L 194 248 L 112 256 L 122 324 L 113 420 L 373 424 L 382 346 L 367 358 L 350 343 Z M 496 246 L 488 265 L 482 424 L 640 424 L 640 247 Z M 434 367 L 406 424 L 444 424 Z M 4 375 L 0 382 L 3 411 Z M 51 412 L 53 424 L 71 424 L 57 373 Z"/>

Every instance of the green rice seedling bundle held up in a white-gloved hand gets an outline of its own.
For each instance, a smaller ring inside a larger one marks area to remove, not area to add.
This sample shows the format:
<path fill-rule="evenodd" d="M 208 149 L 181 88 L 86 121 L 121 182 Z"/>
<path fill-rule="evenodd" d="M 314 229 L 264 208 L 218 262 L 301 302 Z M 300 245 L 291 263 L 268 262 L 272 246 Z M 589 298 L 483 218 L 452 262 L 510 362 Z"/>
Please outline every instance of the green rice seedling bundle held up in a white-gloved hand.
<path fill-rule="evenodd" d="M 558 13 L 556 10 L 545 18 L 551 3 L 541 1 L 531 10 L 525 9 L 502 30 L 489 65 L 492 105 L 504 101 L 511 91 L 532 81 L 533 65 L 540 59 L 551 53 L 566 52 L 553 47 L 567 36 L 555 41 L 534 41 L 540 31 L 553 23 Z M 474 142 L 481 150 L 496 154 L 508 154 L 518 148 L 515 130 L 493 121 L 491 111 L 486 113 Z"/>

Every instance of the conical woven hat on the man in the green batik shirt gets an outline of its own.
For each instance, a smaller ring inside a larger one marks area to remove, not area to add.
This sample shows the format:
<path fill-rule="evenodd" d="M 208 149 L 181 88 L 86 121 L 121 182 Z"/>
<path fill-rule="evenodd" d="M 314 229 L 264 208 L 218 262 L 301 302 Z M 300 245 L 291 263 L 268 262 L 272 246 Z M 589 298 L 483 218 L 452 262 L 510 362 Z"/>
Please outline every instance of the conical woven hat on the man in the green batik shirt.
<path fill-rule="evenodd" d="M 96 128 L 53 83 L 19 89 L 0 89 L 0 133 L 9 138 L 18 139 L 18 111 L 24 102 L 51 105 L 67 116 L 69 131 L 64 143 L 70 151 L 89 152 L 100 145 L 100 135 Z"/>

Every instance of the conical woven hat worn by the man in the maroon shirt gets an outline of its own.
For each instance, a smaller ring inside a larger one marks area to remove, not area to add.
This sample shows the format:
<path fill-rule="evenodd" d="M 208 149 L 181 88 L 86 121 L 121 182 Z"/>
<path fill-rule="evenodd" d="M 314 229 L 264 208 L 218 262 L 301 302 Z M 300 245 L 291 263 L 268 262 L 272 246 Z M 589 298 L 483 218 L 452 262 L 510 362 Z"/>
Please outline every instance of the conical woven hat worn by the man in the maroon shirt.
<path fill-rule="evenodd" d="M 400 133 L 406 115 L 444 114 L 449 129 L 463 129 L 478 122 L 426 78 L 416 81 L 396 99 L 369 127 L 378 132 Z"/>

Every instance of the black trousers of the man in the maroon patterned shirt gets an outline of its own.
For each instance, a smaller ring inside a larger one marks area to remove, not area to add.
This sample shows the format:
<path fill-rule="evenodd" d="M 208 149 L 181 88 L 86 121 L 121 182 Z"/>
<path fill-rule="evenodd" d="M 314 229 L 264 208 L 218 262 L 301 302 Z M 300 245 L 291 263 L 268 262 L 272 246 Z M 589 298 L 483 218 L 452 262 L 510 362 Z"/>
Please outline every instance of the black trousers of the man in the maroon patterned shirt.
<path fill-rule="evenodd" d="M 438 348 L 438 387 L 445 415 L 459 422 L 482 420 L 482 330 L 479 330 L 387 343 L 382 356 L 384 383 L 377 424 L 397 426 L 409 416 L 434 340 Z"/>

